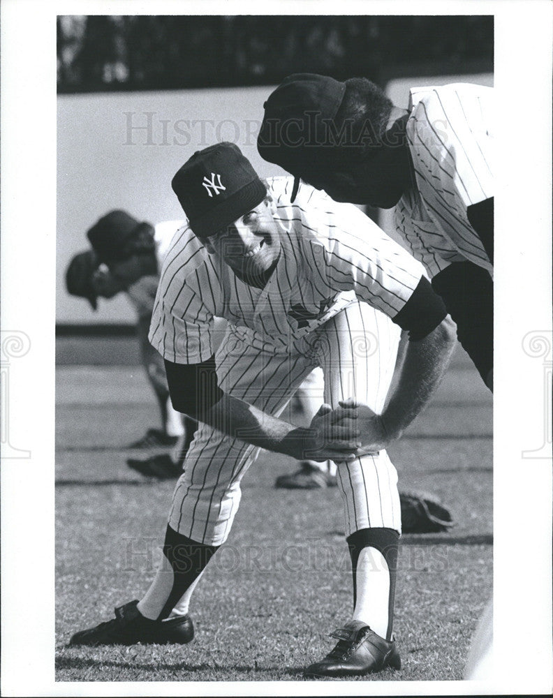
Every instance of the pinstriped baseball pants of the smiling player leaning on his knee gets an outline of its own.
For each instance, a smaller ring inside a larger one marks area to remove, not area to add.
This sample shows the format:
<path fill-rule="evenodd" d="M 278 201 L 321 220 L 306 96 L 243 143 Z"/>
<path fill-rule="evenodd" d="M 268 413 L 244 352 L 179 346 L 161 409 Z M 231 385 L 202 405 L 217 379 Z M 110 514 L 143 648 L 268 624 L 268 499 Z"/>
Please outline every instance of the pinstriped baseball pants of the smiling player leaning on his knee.
<path fill-rule="evenodd" d="M 229 327 L 216 354 L 223 391 L 278 417 L 302 380 L 321 366 L 325 402 L 353 397 L 381 413 L 397 356 L 399 327 L 365 303 L 353 302 L 287 354 L 260 352 Z M 361 438 L 362 439 L 362 438 Z M 260 449 L 200 424 L 173 494 L 169 525 L 197 542 L 225 542 L 238 510 L 240 482 Z M 397 472 L 388 454 L 339 463 L 346 536 L 360 528 L 401 531 Z"/>

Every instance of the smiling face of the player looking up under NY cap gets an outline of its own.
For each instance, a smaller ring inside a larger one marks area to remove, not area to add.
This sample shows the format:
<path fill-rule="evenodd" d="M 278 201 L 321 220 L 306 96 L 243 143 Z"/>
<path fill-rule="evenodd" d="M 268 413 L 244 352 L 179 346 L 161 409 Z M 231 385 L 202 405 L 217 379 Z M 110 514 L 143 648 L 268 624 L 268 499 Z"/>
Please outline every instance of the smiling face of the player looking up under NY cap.
<path fill-rule="evenodd" d="M 270 200 L 247 211 L 226 230 L 209 237 L 208 242 L 208 251 L 226 262 L 240 279 L 266 278 L 276 266 L 281 250 Z"/>

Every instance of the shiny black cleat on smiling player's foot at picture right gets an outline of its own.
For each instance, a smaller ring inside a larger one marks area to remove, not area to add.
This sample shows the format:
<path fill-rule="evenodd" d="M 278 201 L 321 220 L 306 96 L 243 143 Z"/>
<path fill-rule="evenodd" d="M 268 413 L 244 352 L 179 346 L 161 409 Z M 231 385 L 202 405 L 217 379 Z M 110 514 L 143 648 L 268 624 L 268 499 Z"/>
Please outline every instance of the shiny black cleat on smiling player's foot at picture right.
<path fill-rule="evenodd" d="M 304 671 L 305 678 L 317 676 L 364 676 L 383 669 L 400 669 L 395 641 L 385 640 L 362 621 L 350 621 L 334 630 L 337 646 L 326 657 Z"/>

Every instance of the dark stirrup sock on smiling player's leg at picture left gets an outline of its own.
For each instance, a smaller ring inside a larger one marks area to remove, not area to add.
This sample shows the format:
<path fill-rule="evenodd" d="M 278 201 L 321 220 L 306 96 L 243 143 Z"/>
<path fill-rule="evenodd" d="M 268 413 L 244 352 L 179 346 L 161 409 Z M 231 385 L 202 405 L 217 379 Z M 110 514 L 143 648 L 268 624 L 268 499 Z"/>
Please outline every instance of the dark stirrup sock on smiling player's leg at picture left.
<path fill-rule="evenodd" d="M 168 559 L 173 572 L 173 584 L 168 600 L 161 609 L 158 621 L 167 618 L 175 604 L 186 590 L 205 570 L 207 563 L 214 556 L 218 545 L 205 545 L 190 540 L 186 535 L 177 533 L 170 526 L 165 531 L 163 555 Z"/>

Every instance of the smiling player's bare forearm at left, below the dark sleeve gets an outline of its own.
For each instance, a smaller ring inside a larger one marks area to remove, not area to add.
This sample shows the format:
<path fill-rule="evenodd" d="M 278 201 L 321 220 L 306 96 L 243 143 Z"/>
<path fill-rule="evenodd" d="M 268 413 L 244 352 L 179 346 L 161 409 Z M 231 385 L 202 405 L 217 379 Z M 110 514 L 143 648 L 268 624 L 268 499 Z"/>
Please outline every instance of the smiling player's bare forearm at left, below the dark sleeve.
<path fill-rule="evenodd" d="M 227 436 L 298 460 L 306 457 L 305 452 L 313 447 L 313 435 L 309 429 L 267 415 L 226 393 L 198 418 Z"/>

